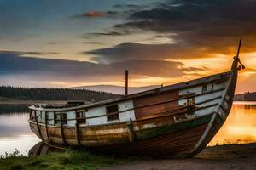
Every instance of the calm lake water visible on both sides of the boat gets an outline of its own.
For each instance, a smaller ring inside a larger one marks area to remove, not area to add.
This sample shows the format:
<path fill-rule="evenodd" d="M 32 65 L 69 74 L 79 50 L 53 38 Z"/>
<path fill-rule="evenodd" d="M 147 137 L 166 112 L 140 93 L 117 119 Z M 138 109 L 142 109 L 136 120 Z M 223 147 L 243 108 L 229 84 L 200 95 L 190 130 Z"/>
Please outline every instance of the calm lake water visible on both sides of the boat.
<path fill-rule="evenodd" d="M 27 154 L 39 142 L 28 126 L 28 113 L 23 109 L 20 110 L 22 112 L 15 109 L 15 112 L 7 113 L 9 109 L 3 111 L 4 107 L 0 107 L 0 155 L 15 149 Z M 256 102 L 236 102 L 210 145 L 249 142 L 256 142 Z"/>

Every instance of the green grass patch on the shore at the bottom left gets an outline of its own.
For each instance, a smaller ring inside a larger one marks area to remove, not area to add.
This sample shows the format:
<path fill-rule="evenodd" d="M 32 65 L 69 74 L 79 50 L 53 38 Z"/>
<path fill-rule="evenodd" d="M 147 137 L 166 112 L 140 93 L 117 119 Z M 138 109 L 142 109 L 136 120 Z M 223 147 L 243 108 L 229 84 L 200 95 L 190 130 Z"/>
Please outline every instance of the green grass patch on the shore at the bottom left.
<path fill-rule="evenodd" d="M 114 156 L 99 156 L 89 152 L 78 150 L 67 150 L 63 153 L 49 153 L 49 155 L 27 157 L 19 155 L 15 150 L 12 154 L 0 158 L 1 170 L 24 170 L 24 169 L 48 169 L 48 170 L 66 170 L 66 169 L 99 169 L 99 167 L 108 167 L 111 164 L 125 163 L 131 159 L 116 158 Z"/>

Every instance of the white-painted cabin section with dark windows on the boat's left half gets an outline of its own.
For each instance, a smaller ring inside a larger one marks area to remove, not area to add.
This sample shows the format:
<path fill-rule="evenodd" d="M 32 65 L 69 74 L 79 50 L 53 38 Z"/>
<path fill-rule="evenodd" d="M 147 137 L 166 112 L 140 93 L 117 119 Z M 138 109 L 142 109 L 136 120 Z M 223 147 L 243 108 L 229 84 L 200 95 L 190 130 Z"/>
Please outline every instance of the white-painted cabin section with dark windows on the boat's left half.
<path fill-rule="evenodd" d="M 54 105 L 36 104 L 33 107 L 37 110 L 31 110 L 31 120 L 47 123 L 48 125 L 57 126 L 75 126 L 79 125 L 102 125 L 111 122 L 129 122 L 135 120 L 132 101 L 122 101 L 110 105 L 99 105 L 88 108 L 72 109 L 85 103 L 67 103 L 64 107 L 54 107 Z M 68 107 L 66 107 L 68 106 Z M 40 109 L 44 111 L 40 111 Z M 66 110 L 65 110 L 66 109 Z M 69 109 L 72 109 L 68 111 Z M 50 111 L 47 111 L 50 110 Z M 131 111 L 125 111 L 131 110 Z M 125 112 L 122 112 L 125 111 Z M 119 113 L 120 112 L 120 113 Z"/>

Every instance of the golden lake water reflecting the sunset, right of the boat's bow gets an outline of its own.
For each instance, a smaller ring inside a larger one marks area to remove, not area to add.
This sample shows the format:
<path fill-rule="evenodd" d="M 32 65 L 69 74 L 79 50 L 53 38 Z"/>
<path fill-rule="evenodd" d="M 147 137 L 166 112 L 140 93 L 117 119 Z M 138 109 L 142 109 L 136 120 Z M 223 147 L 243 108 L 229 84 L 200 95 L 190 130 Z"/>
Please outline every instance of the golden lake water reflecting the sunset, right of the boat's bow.
<path fill-rule="evenodd" d="M 234 102 L 224 126 L 209 145 L 256 142 L 256 102 Z"/>

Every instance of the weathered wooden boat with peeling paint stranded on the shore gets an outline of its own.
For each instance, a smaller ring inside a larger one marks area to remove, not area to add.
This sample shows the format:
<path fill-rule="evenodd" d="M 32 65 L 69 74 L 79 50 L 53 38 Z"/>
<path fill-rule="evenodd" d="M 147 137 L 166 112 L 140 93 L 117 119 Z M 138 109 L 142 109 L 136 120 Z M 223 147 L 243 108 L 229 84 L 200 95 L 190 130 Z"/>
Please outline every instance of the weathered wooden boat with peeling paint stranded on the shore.
<path fill-rule="evenodd" d="M 87 105 L 32 105 L 30 127 L 49 144 L 102 153 L 195 156 L 229 115 L 242 65 L 240 46 L 227 72 Z"/>

